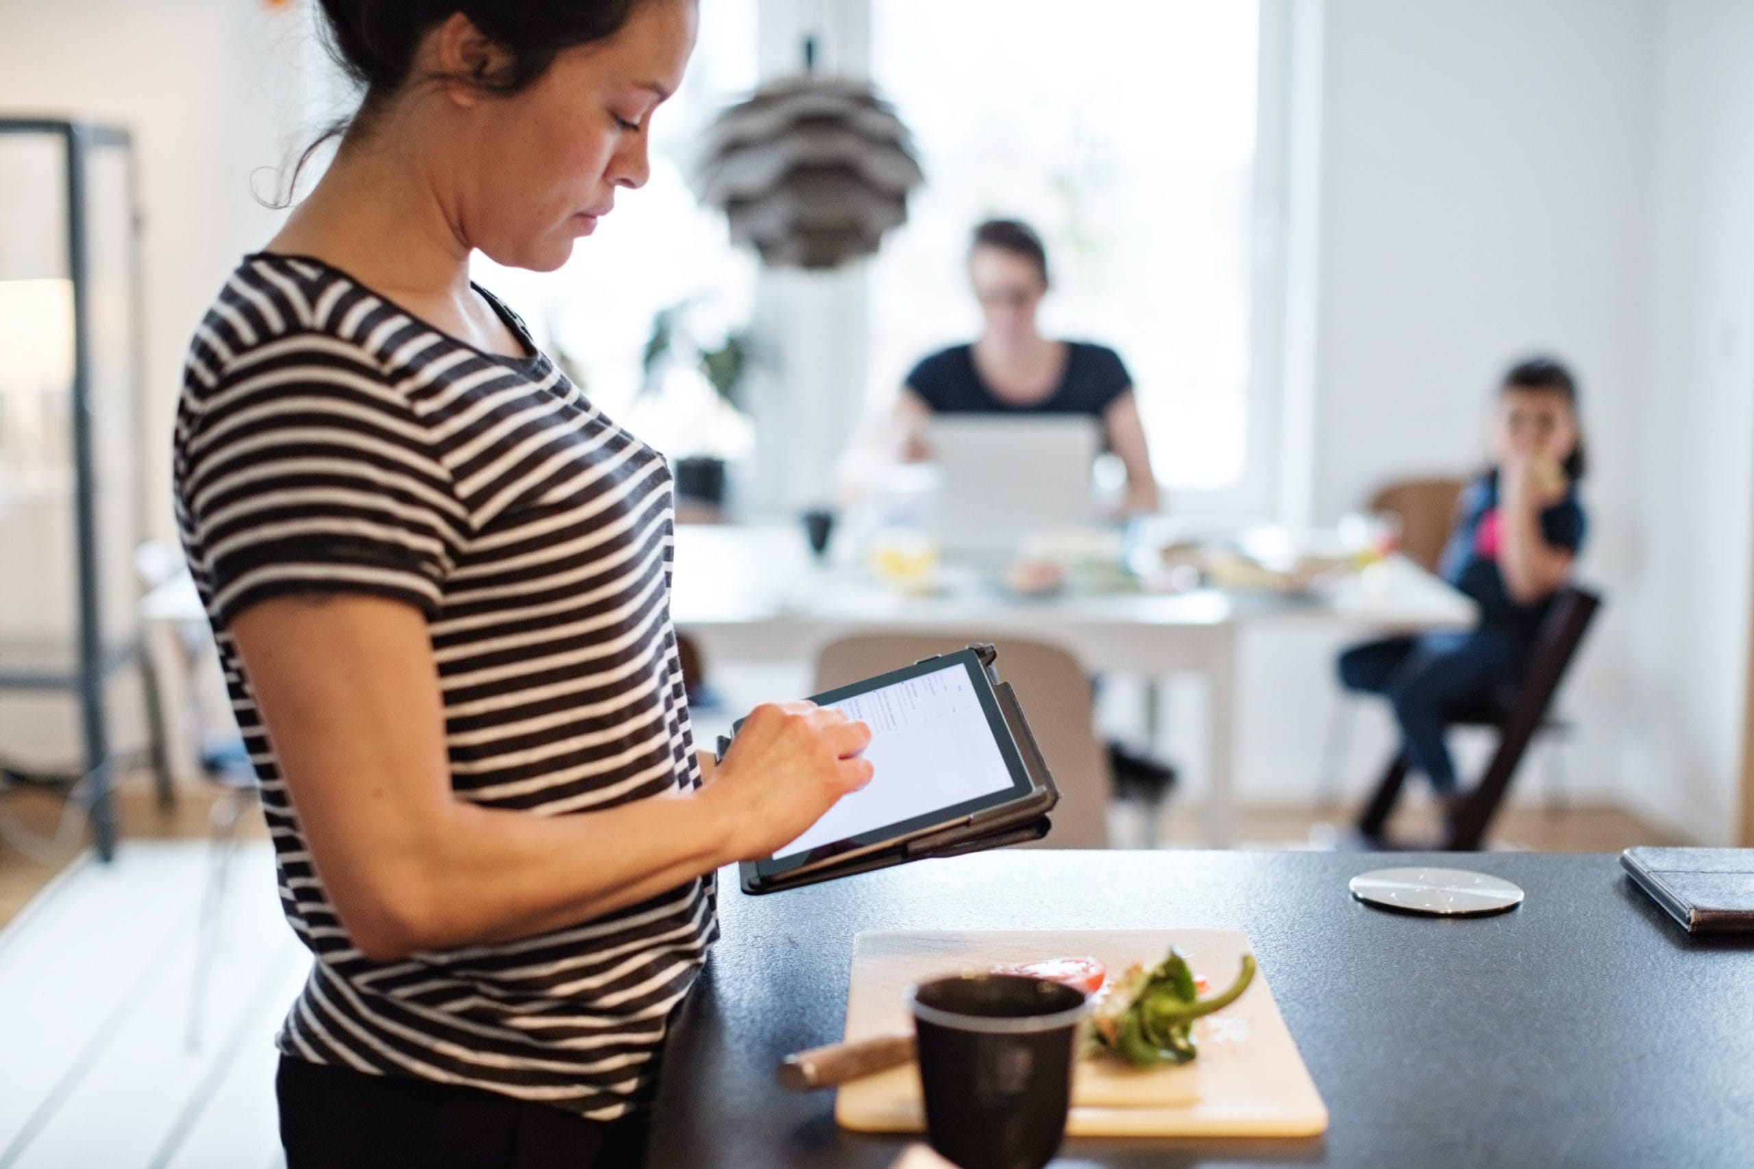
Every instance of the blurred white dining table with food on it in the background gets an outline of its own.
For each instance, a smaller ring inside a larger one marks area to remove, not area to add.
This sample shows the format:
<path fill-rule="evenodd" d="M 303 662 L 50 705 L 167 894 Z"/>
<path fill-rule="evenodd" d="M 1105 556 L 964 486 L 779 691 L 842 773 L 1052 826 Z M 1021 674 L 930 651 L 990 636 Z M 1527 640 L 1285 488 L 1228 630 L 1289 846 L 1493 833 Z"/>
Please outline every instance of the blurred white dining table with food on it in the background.
<path fill-rule="evenodd" d="M 1205 684 L 1203 843 L 1233 841 L 1233 762 L 1242 640 L 1273 627 L 1351 636 L 1463 629 L 1472 599 L 1405 556 L 1387 556 L 1323 587 L 1242 591 L 1070 587 L 1019 596 L 1002 566 L 947 563 L 930 589 L 909 589 L 849 557 L 812 556 L 796 522 L 679 524 L 672 617 L 714 664 L 809 662 L 835 638 L 940 633 L 947 645 L 1031 638 L 1068 650 L 1093 677 Z M 1149 703 L 1156 710 L 1154 703 Z"/>

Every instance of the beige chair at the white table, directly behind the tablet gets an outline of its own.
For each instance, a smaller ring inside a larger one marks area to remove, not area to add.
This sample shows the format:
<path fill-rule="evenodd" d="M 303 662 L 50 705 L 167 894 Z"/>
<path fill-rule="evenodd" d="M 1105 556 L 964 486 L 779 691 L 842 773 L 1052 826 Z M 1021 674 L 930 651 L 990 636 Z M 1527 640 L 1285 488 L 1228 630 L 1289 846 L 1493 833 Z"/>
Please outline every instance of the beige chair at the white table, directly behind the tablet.
<path fill-rule="evenodd" d="M 1072 654 L 1017 638 L 873 633 L 830 641 L 816 657 L 814 692 L 849 685 L 979 641 L 998 647 L 998 673 L 1017 691 L 1059 789 L 1054 831 L 1031 848 L 1109 847 L 1109 754 L 1096 740 L 1091 682 Z"/>

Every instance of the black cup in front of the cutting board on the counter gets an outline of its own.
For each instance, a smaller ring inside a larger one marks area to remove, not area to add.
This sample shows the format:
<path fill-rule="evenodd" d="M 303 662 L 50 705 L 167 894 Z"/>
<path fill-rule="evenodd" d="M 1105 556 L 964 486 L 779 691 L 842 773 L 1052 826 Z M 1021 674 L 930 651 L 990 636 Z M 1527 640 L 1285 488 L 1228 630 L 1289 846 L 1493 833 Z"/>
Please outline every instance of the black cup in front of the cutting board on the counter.
<path fill-rule="evenodd" d="M 1084 992 L 958 974 L 910 987 L 931 1148 L 961 1169 L 1042 1169 L 1072 1106 Z"/>

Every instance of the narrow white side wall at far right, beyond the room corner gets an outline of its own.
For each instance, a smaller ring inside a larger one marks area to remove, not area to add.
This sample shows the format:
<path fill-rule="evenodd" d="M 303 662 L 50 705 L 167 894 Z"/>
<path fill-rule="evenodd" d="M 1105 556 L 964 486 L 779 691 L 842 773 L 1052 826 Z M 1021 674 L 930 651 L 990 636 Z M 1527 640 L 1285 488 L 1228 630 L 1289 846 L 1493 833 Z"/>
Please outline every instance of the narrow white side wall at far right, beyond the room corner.
<path fill-rule="evenodd" d="M 1754 5 L 1666 4 L 1656 96 L 1622 783 L 1633 806 L 1731 843 L 1754 538 Z"/>

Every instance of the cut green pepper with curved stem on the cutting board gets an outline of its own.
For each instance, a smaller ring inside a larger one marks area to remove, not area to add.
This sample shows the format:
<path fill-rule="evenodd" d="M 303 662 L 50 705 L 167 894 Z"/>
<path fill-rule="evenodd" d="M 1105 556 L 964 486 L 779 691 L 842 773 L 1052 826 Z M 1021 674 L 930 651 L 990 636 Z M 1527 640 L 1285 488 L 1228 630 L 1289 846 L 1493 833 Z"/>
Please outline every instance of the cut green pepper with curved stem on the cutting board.
<path fill-rule="evenodd" d="M 1242 973 L 1228 990 L 1201 999 L 1194 973 L 1180 950 L 1172 948 L 1152 969 L 1131 966 L 1116 981 L 1107 1001 L 1091 1018 L 1096 1046 L 1138 1067 L 1186 1064 L 1194 1048 L 1194 1020 L 1242 997 L 1254 981 L 1254 955 L 1242 955 Z"/>

